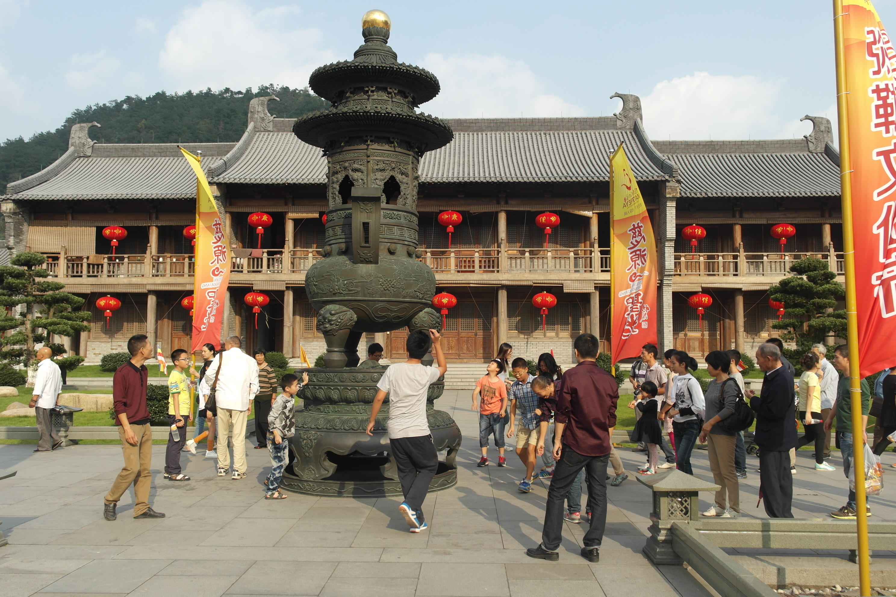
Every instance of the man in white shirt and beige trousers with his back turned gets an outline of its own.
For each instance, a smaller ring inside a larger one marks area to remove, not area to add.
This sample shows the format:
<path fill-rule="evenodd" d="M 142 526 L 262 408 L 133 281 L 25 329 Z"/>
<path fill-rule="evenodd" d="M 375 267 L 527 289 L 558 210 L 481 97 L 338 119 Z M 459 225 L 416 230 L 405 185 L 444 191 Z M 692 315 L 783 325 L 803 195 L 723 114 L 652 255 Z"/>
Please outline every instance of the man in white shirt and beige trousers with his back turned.
<path fill-rule="evenodd" d="M 218 380 L 215 386 L 215 405 L 218 409 L 218 476 L 226 476 L 230 468 L 227 439 L 232 427 L 233 479 L 246 476 L 246 421 L 252 412 L 252 401 L 258 394 L 258 363 L 240 349 L 242 345 L 240 337 L 228 337 L 224 341 L 224 350 L 211 362 L 199 387 L 199 393 L 208 397 L 215 380 Z"/>

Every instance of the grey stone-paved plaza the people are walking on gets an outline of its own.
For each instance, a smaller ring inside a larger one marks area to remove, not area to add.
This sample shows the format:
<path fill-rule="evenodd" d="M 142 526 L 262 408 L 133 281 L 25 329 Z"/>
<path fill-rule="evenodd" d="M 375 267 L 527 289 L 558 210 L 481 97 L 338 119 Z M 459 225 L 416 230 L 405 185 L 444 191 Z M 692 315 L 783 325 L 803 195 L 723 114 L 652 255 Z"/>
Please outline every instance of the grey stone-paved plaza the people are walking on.
<path fill-rule="evenodd" d="M 635 481 L 642 455 L 621 449 L 630 479 L 608 488 L 607 533 L 600 563 L 579 556 L 583 525 L 567 524 L 559 562 L 526 557 L 536 545 L 547 484 L 521 494 L 519 459 L 507 468 L 477 468 L 478 414 L 467 390 L 449 390 L 437 403 L 452 414 L 465 439 L 458 485 L 431 494 L 425 533 L 408 533 L 400 499 L 311 498 L 266 501 L 261 489 L 270 460 L 248 450 L 249 476 L 217 477 L 211 460 L 183 454 L 191 482 L 162 479 L 164 446 L 154 446 L 151 504 L 168 516 L 133 520 L 133 493 L 118 520 L 102 518 L 103 495 L 122 460 L 116 446 L 91 445 L 36 455 L 33 445 L 0 446 L 0 469 L 18 475 L 0 481 L 0 594 L 189 595 L 228 594 L 402 596 L 580 596 L 711 594 L 685 567 L 654 567 L 641 554 L 650 525 L 650 491 Z M 247 445 L 249 442 L 247 441 Z M 494 453 L 494 449 L 492 450 Z M 495 454 L 496 456 L 496 454 Z M 887 452 L 884 465 L 896 460 Z M 756 508 L 759 483 L 748 456 L 741 482 L 744 516 Z M 811 453 L 799 452 L 794 514 L 822 517 L 845 501 L 847 482 L 837 471 L 816 473 Z M 710 477 L 706 452 L 694 450 L 694 472 Z M 885 482 L 896 478 L 888 474 Z M 892 489 L 871 499 L 874 519 L 896 520 Z M 702 496 L 708 507 L 710 494 Z M 584 502 L 583 502 L 584 503 Z M 822 546 L 819 546 L 822 547 Z M 743 550 L 744 552 L 751 550 Z M 756 550 L 752 550 L 756 551 Z M 842 563 L 845 552 L 803 550 L 806 558 Z M 874 552 L 874 566 L 896 552 Z M 889 564 L 888 564 L 889 562 Z"/>

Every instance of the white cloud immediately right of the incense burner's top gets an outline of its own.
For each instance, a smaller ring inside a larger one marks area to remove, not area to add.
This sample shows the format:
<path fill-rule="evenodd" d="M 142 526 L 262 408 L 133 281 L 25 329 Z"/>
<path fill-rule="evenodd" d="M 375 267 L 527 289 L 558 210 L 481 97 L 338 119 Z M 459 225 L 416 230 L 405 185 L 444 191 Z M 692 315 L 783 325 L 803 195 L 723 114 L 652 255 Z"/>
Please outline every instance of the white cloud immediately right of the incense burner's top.
<path fill-rule="evenodd" d="M 435 116 L 580 116 L 581 107 L 545 93 L 529 65 L 503 55 L 426 55 L 420 66 L 439 78 L 442 92 L 420 107 Z"/>

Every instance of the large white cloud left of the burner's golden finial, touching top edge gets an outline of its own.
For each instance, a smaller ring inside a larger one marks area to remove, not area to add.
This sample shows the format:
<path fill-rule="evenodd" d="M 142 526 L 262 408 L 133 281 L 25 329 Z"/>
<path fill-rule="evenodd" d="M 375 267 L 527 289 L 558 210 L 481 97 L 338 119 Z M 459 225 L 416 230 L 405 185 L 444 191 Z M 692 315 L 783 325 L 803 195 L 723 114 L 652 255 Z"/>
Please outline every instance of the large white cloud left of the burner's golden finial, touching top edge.
<path fill-rule="evenodd" d="M 204 0 L 168 30 L 159 67 L 180 90 L 304 87 L 314 68 L 335 58 L 321 48 L 319 30 L 281 25 L 295 13 L 287 6 L 254 11 L 241 0 Z"/>

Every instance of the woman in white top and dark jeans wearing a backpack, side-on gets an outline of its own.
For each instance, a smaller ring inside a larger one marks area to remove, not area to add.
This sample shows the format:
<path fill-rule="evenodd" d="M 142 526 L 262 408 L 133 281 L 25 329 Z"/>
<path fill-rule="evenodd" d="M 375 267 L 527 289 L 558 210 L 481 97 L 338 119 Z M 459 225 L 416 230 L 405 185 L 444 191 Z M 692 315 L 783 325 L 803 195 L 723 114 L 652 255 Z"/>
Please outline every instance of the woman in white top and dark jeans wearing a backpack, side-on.
<path fill-rule="evenodd" d="M 675 430 L 676 468 L 682 473 L 694 474 L 691 470 L 691 452 L 700 435 L 700 420 L 703 416 L 703 390 L 691 371 L 697 371 L 693 356 L 683 350 L 676 350 L 669 359 L 672 372 L 676 373 L 672 393 L 675 404 L 668 410 Z"/>

